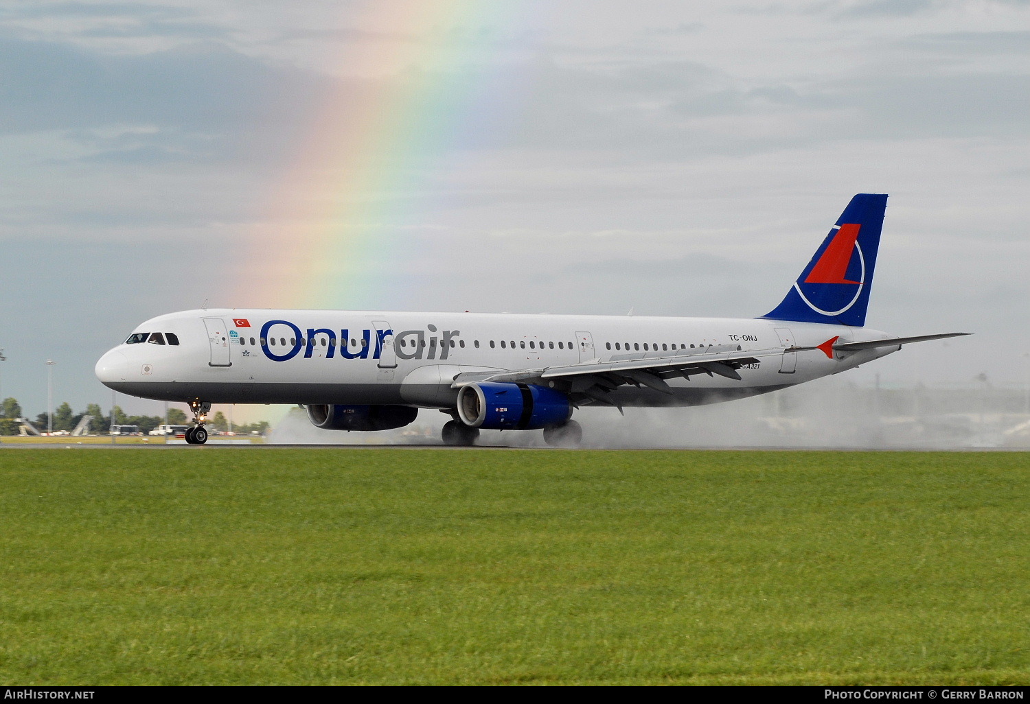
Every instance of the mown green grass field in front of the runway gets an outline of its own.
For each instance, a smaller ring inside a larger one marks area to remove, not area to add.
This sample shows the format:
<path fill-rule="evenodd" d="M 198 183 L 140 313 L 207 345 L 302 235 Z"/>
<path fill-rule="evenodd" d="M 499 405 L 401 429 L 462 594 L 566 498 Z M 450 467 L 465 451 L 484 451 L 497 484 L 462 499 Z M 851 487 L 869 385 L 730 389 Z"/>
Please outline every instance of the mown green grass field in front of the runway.
<path fill-rule="evenodd" d="M 1030 454 L 0 451 L 0 683 L 1030 682 Z"/>

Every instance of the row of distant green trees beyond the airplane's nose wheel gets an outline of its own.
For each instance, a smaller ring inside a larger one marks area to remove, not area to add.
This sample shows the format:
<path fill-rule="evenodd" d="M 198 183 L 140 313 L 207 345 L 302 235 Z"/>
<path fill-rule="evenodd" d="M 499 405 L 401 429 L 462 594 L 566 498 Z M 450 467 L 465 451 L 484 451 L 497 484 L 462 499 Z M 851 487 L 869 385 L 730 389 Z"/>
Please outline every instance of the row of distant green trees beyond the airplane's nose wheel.
<path fill-rule="evenodd" d="M 19 425 L 16 419 L 24 417 L 25 414 L 22 413 L 22 407 L 18 402 L 16 398 L 8 397 L 4 398 L 0 402 L 0 435 L 16 435 L 20 433 Z M 111 421 L 111 415 L 114 416 L 113 423 Z M 87 432 L 91 435 L 104 435 L 111 429 L 111 425 L 135 425 L 139 427 L 139 431 L 146 434 L 157 428 L 159 425 L 165 423 L 164 416 L 128 416 L 126 413 L 117 406 L 112 410 L 112 414 L 104 415 L 99 403 L 90 403 L 85 407 L 85 411 L 81 413 L 75 413 L 72 411 L 71 406 L 65 401 L 58 408 L 54 410 L 54 430 L 67 430 L 71 432 L 78 425 L 78 422 L 82 420 L 83 416 L 93 416 L 90 421 L 90 427 Z M 46 432 L 46 422 L 47 414 L 41 413 L 34 420 L 32 424 L 36 426 L 39 432 Z M 168 410 L 168 423 L 176 425 L 186 425 L 188 424 L 188 418 L 186 414 L 179 409 L 169 409 Z M 211 417 L 207 422 L 208 428 L 212 430 L 228 430 L 229 429 L 229 419 L 226 418 L 225 414 L 218 411 Z M 233 430 L 237 432 L 252 432 L 256 430 L 262 434 L 268 432 L 269 424 L 268 421 L 259 421 L 258 423 L 248 423 L 245 425 L 233 425 Z"/>

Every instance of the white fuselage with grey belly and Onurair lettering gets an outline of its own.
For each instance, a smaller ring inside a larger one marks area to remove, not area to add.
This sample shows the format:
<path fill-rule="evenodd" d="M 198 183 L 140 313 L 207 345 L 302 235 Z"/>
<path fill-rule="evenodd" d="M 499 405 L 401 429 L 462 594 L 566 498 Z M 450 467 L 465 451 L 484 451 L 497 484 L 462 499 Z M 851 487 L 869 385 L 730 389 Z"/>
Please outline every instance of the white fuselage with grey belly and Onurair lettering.
<path fill-rule="evenodd" d="M 756 318 L 212 309 L 159 316 L 135 332 L 171 332 L 179 344 L 122 344 L 97 362 L 105 385 L 134 396 L 439 409 L 454 408 L 451 382 L 466 372 L 667 357 L 708 346 L 761 354 L 739 369 L 741 380 L 701 375 L 670 379 L 672 394 L 629 385 L 612 393 L 620 406 L 696 406 L 812 381 L 898 349 L 785 351 L 834 337 L 845 343 L 888 336 Z"/>

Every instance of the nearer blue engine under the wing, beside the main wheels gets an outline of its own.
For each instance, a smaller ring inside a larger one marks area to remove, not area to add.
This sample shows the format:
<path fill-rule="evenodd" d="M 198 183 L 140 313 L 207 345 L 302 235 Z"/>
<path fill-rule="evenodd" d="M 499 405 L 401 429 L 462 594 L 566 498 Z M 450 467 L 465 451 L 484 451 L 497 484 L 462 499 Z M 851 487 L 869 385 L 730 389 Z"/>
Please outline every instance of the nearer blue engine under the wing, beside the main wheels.
<path fill-rule="evenodd" d="M 458 391 L 457 415 L 474 428 L 534 430 L 564 423 L 573 404 L 546 386 L 476 382 Z"/>

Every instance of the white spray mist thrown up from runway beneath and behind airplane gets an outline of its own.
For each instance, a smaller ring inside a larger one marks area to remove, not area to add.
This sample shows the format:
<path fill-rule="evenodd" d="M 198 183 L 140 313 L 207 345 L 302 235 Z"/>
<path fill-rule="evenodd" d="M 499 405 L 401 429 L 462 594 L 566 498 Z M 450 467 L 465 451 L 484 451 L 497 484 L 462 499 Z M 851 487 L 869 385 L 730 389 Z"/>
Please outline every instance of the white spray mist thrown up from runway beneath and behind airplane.
<path fill-rule="evenodd" d="M 1030 447 L 1030 399 L 984 380 L 967 388 L 868 388 L 826 379 L 744 400 L 688 409 L 584 408 L 583 447 L 940 449 Z M 438 445 L 449 420 L 422 410 L 385 432 L 321 430 L 294 409 L 271 444 Z M 484 447 L 546 447 L 540 430 L 482 431 Z"/>

